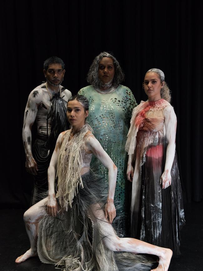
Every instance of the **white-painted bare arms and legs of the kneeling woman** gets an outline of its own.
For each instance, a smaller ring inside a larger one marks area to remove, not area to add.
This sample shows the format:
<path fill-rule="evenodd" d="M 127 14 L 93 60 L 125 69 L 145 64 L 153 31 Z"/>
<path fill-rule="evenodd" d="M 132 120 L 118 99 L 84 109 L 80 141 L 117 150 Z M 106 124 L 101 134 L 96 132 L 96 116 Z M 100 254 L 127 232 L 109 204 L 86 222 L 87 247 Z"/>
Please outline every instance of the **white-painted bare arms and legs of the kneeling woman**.
<path fill-rule="evenodd" d="M 89 135 L 89 133 L 90 132 L 87 132 L 87 135 Z M 59 209 L 57 206 L 57 201 L 54 193 L 54 182 L 57 158 L 61 148 L 63 134 L 64 132 L 61 133 L 57 139 L 56 148 L 52 155 L 52 159 L 48 169 L 49 196 L 48 198 L 45 198 L 44 200 L 32 206 L 24 214 L 24 220 L 26 224 L 28 237 L 30 239 L 31 248 L 25 254 L 18 257 L 16 259 L 16 263 L 21 263 L 22 261 L 25 261 L 29 257 L 36 256 L 36 240 L 38 228 L 37 221 L 45 214 L 45 211 L 44 210 L 42 211 L 42 206 L 44 206 L 47 202 L 47 212 L 52 216 L 55 216 L 56 212 Z M 111 226 L 111 223 L 116 216 L 113 198 L 116 186 L 117 168 L 113 161 L 111 160 L 111 158 L 103 150 L 98 140 L 94 138 L 94 136 L 87 137 L 87 140 L 85 140 L 84 149 L 86 153 L 93 153 L 102 162 L 102 164 L 106 168 L 108 168 L 109 190 L 107 203 L 105 207 L 105 213 L 102 211 L 98 212 L 99 208 L 96 205 L 92 206 L 90 210 L 92 213 L 94 213 L 94 215 L 97 218 L 99 218 L 98 224 L 101 232 L 104 234 L 104 236 L 108 236 L 103 239 L 104 245 L 106 245 L 107 248 L 113 251 L 156 254 L 160 258 L 160 261 L 159 266 L 154 270 L 167 271 L 172 256 L 172 251 L 170 249 L 156 247 L 154 245 L 133 238 L 119 238 L 116 236 Z M 89 168 L 87 167 L 82 168 L 81 174 L 87 172 L 88 170 Z M 109 222 L 105 223 L 105 227 L 103 226 L 104 221 Z"/>

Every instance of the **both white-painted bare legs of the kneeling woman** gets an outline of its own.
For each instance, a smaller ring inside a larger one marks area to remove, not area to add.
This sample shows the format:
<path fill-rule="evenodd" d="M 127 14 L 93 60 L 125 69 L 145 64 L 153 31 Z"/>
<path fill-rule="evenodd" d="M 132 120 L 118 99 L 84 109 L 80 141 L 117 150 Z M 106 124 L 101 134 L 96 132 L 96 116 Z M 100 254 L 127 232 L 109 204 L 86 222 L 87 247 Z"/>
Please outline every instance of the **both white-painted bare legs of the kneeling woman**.
<path fill-rule="evenodd" d="M 16 259 L 16 263 L 21 263 L 30 257 L 37 256 L 37 230 L 38 220 L 43 217 L 47 211 L 42 206 L 47 204 L 47 198 L 36 203 L 29 208 L 24 214 L 24 221 L 28 237 L 30 239 L 30 249 L 22 256 Z M 104 245 L 112 251 L 126 251 L 131 253 L 147 253 L 157 255 L 159 257 L 159 265 L 153 271 L 167 271 L 172 251 L 168 248 L 161 248 L 134 238 L 119 238 L 114 232 L 113 227 L 105 219 L 104 212 L 100 209 L 98 204 L 94 204 L 90 208 L 91 216 L 94 223 L 99 227 L 103 236 Z"/>

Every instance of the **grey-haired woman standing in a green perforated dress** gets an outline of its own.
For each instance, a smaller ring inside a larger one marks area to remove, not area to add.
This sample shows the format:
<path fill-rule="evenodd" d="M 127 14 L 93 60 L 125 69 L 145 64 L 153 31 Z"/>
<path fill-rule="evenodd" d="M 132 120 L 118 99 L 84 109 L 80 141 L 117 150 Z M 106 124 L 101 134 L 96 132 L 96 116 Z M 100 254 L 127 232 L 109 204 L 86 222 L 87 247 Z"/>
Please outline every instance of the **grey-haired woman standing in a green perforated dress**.
<path fill-rule="evenodd" d="M 131 90 L 120 84 L 123 79 L 124 73 L 117 59 L 110 53 L 102 52 L 94 59 L 89 69 L 87 82 L 91 85 L 80 89 L 78 94 L 88 98 L 87 121 L 94 131 L 94 136 L 118 168 L 115 199 L 120 202 L 119 206 L 116 206 L 116 212 L 121 219 L 115 222 L 114 228 L 119 228 L 119 234 L 126 236 L 131 189 L 126 178 L 125 144 L 132 109 L 137 104 Z M 92 165 L 94 162 L 95 159 L 92 159 Z M 106 168 L 99 165 L 98 169 L 105 177 L 108 187 Z"/>

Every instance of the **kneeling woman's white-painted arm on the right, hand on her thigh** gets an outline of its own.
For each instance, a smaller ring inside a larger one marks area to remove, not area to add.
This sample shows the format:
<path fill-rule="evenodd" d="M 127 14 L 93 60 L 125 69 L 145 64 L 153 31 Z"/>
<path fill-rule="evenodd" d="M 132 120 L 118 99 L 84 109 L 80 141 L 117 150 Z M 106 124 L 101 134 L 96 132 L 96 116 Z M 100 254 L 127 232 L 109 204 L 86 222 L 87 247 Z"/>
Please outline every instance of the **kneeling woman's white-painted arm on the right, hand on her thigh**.
<path fill-rule="evenodd" d="M 116 209 L 113 203 L 116 188 L 117 167 L 104 151 L 99 141 L 94 136 L 89 136 L 85 142 L 85 149 L 92 152 L 97 159 L 108 169 L 108 197 L 105 206 L 105 217 L 109 219 L 109 223 L 113 222 L 116 216 Z"/>

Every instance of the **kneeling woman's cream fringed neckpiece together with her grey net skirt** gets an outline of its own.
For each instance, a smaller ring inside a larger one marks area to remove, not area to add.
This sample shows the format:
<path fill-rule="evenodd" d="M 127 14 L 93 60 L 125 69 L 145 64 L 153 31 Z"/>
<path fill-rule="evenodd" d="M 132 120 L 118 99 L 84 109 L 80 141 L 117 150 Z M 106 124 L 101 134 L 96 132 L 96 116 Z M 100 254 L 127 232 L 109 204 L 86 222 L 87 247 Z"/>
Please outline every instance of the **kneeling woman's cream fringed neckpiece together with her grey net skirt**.
<path fill-rule="evenodd" d="M 67 271 L 116 271 L 123 267 L 129 271 L 150 270 L 153 260 L 130 253 L 114 254 L 102 242 L 115 233 L 112 227 L 106 231 L 109 223 L 104 213 L 107 198 L 104 178 L 92 172 L 79 174 L 85 160 L 81 155 L 82 146 L 89 129 L 85 125 L 70 141 L 71 131 L 64 136 L 57 164 L 57 200 L 62 204 L 58 206 L 57 217 L 47 214 L 40 220 L 39 258 L 43 263 L 52 263 Z"/>

